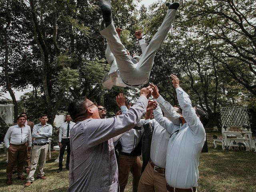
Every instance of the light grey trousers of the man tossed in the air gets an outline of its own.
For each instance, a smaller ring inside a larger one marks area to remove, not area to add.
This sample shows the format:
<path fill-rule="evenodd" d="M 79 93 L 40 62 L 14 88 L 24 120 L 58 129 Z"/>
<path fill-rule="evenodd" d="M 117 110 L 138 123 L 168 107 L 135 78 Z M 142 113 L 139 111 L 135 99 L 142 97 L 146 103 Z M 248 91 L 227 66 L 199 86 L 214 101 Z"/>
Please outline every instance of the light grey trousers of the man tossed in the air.
<path fill-rule="evenodd" d="M 104 27 L 104 23 L 102 22 L 100 25 L 100 34 L 106 38 L 110 50 L 116 58 L 119 75 L 125 84 L 141 85 L 148 83 L 156 51 L 164 42 L 175 15 L 176 10 L 168 10 L 158 32 L 156 32 L 148 44 L 145 52 L 142 54 L 142 58 L 137 64 L 134 64 L 128 56 L 124 45 L 118 37 L 113 22 L 107 28 Z"/>

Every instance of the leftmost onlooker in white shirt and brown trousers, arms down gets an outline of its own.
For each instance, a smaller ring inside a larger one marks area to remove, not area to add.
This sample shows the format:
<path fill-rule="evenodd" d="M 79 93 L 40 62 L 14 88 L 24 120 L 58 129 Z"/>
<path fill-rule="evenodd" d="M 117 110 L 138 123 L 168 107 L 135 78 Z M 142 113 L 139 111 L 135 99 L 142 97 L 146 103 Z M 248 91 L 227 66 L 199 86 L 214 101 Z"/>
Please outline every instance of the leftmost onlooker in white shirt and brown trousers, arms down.
<path fill-rule="evenodd" d="M 18 179 L 25 180 L 22 175 L 26 150 L 30 151 L 32 146 L 31 130 L 25 125 L 26 118 L 22 115 L 17 118 L 17 125 L 11 126 L 5 136 L 4 143 L 8 150 L 8 164 L 6 167 L 6 184 L 12 184 L 12 169 L 18 162 Z"/>

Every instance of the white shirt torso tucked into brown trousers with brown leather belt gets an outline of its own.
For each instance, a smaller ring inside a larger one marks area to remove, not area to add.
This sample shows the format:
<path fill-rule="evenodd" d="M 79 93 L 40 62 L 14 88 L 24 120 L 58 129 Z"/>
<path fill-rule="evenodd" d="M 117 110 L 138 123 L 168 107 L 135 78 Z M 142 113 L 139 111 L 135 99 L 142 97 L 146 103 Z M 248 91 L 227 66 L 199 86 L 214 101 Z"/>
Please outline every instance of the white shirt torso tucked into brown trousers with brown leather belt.
<path fill-rule="evenodd" d="M 149 121 L 146 120 L 145 123 L 147 122 Z M 150 120 L 150 123 L 154 127 L 150 147 L 150 159 L 156 166 L 165 168 L 166 150 L 170 134 L 155 119 Z"/>

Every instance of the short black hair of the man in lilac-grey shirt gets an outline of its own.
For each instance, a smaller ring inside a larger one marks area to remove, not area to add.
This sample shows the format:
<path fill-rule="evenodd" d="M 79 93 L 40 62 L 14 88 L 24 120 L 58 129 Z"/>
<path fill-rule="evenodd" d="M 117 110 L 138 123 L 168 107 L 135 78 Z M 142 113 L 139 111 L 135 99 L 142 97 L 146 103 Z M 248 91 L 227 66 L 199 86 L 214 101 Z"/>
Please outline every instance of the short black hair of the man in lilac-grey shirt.
<path fill-rule="evenodd" d="M 68 113 L 73 120 L 82 114 L 86 114 L 86 103 L 86 97 L 79 97 L 69 104 Z"/>

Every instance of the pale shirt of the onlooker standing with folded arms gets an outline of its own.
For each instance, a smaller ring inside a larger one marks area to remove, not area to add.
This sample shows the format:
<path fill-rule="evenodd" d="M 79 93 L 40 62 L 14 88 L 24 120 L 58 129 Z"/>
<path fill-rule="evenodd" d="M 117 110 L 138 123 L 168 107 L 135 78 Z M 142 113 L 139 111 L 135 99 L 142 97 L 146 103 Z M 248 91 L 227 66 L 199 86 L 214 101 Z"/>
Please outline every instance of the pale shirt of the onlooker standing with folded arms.
<path fill-rule="evenodd" d="M 38 123 L 33 127 L 32 137 L 35 138 L 34 143 L 36 144 L 47 143 L 49 142 L 49 137 L 51 136 L 52 136 L 52 125 L 46 123 L 44 126 L 42 126 L 41 123 Z"/>

